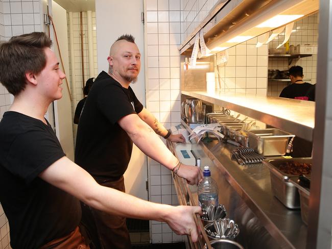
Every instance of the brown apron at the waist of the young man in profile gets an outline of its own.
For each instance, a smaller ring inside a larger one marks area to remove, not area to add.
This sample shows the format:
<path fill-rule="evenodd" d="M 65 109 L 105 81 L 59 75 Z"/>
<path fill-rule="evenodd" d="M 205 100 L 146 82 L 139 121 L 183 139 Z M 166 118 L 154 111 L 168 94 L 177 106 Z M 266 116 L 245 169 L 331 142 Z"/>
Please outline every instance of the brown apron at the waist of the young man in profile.
<path fill-rule="evenodd" d="M 85 238 L 82 236 L 79 227 L 77 227 L 69 235 L 54 239 L 49 243 L 40 247 L 40 249 L 89 249 L 90 246 L 86 244 Z"/>

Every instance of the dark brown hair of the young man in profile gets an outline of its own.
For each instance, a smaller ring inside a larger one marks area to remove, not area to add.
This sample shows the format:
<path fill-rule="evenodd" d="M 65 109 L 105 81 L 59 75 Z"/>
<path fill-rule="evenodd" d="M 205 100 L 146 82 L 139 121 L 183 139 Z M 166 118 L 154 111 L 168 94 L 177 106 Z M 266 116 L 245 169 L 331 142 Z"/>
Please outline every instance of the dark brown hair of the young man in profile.
<path fill-rule="evenodd" d="M 44 48 L 52 40 L 43 32 L 13 36 L 0 44 L 0 82 L 14 96 L 26 88 L 26 73 L 38 74 L 46 65 Z"/>

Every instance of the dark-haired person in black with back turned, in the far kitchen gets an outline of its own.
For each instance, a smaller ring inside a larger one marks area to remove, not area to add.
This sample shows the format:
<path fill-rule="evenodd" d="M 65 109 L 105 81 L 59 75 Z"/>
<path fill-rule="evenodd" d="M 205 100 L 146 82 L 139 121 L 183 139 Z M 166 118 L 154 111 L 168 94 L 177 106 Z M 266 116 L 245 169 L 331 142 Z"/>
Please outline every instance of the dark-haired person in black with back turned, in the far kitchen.
<path fill-rule="evenodd" d="M 302 101 L 309 101 L 308 91 L 313 86 L 310 83 L 303 82 L 303 68 L 300 66 L 292 66 L 289 69 L 291 85 L 283 88 L 279 97 L 301 99 Z"/>

